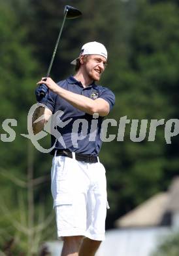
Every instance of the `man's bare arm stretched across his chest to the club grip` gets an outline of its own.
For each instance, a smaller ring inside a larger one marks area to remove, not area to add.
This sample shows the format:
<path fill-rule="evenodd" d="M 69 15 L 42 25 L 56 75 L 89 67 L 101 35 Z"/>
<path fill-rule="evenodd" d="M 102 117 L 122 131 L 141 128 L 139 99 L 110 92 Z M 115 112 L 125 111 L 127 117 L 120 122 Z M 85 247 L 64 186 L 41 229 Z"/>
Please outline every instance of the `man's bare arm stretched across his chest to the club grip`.
<path fill-rule="evenodd" d="M 59 87 L 50 77 L 48 77 L 46 81 L 39 81 L 38 84 L 41 83 L 45 83 L 51 91 L 61 96 L 61 98 L 67 100 L 67 102 L 73 105 L 74 108 L 78 108 L 78 110 L 86 112 L 90 115 L 98 113 L 99 116 L 106 116 L 110 111 L 108 102 L 106 102 L 106 100 L 103 98 L 92 100 L 84 95 L 72 93 L 71 91 L 67 91 Z"/>

